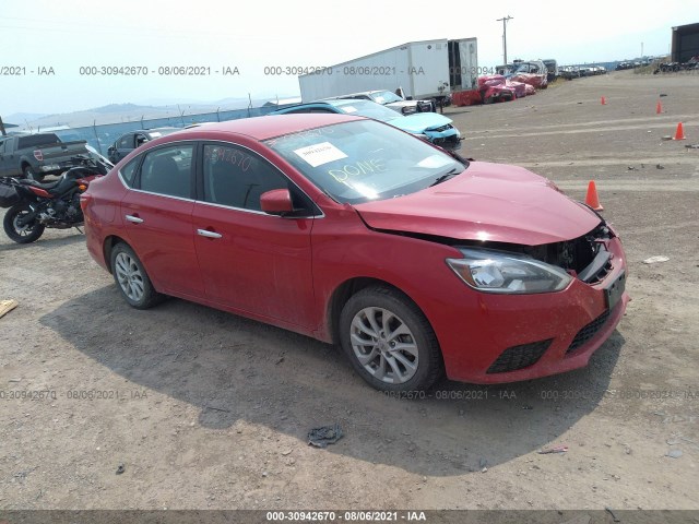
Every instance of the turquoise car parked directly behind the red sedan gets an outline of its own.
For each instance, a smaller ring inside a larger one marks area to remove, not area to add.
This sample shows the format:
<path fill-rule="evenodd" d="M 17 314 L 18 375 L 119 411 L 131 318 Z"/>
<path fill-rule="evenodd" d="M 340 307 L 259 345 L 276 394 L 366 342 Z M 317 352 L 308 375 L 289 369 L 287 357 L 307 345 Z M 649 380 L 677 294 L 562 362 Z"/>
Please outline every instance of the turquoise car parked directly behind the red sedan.
<path fill-rule="evenodd" d="M 297 112 L 357 115 L 380 120 L 447 150 L 457 150 L 461 145 L 459 130 L 452 126 L 451 119 L 436 112 L 417 112 L 404 117 L 393 109 L 375 102 L 342 99 L 299 104 L 279 109 L 271 115 L 292 115 Z"/>

